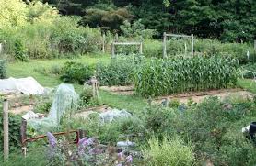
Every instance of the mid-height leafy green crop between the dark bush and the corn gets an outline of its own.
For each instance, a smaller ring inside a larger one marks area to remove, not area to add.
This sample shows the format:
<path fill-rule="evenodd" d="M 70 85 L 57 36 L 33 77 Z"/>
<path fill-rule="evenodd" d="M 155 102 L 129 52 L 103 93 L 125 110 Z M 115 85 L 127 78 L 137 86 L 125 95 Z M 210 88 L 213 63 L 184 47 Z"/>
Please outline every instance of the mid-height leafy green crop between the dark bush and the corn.
<path fill-rule="evenodd" d="M 101 85 L 129 85 L 133 72 L 134 61 L 130 58 L 114 59 L 110 64 L 97 65 L 97 77 Z"/>

